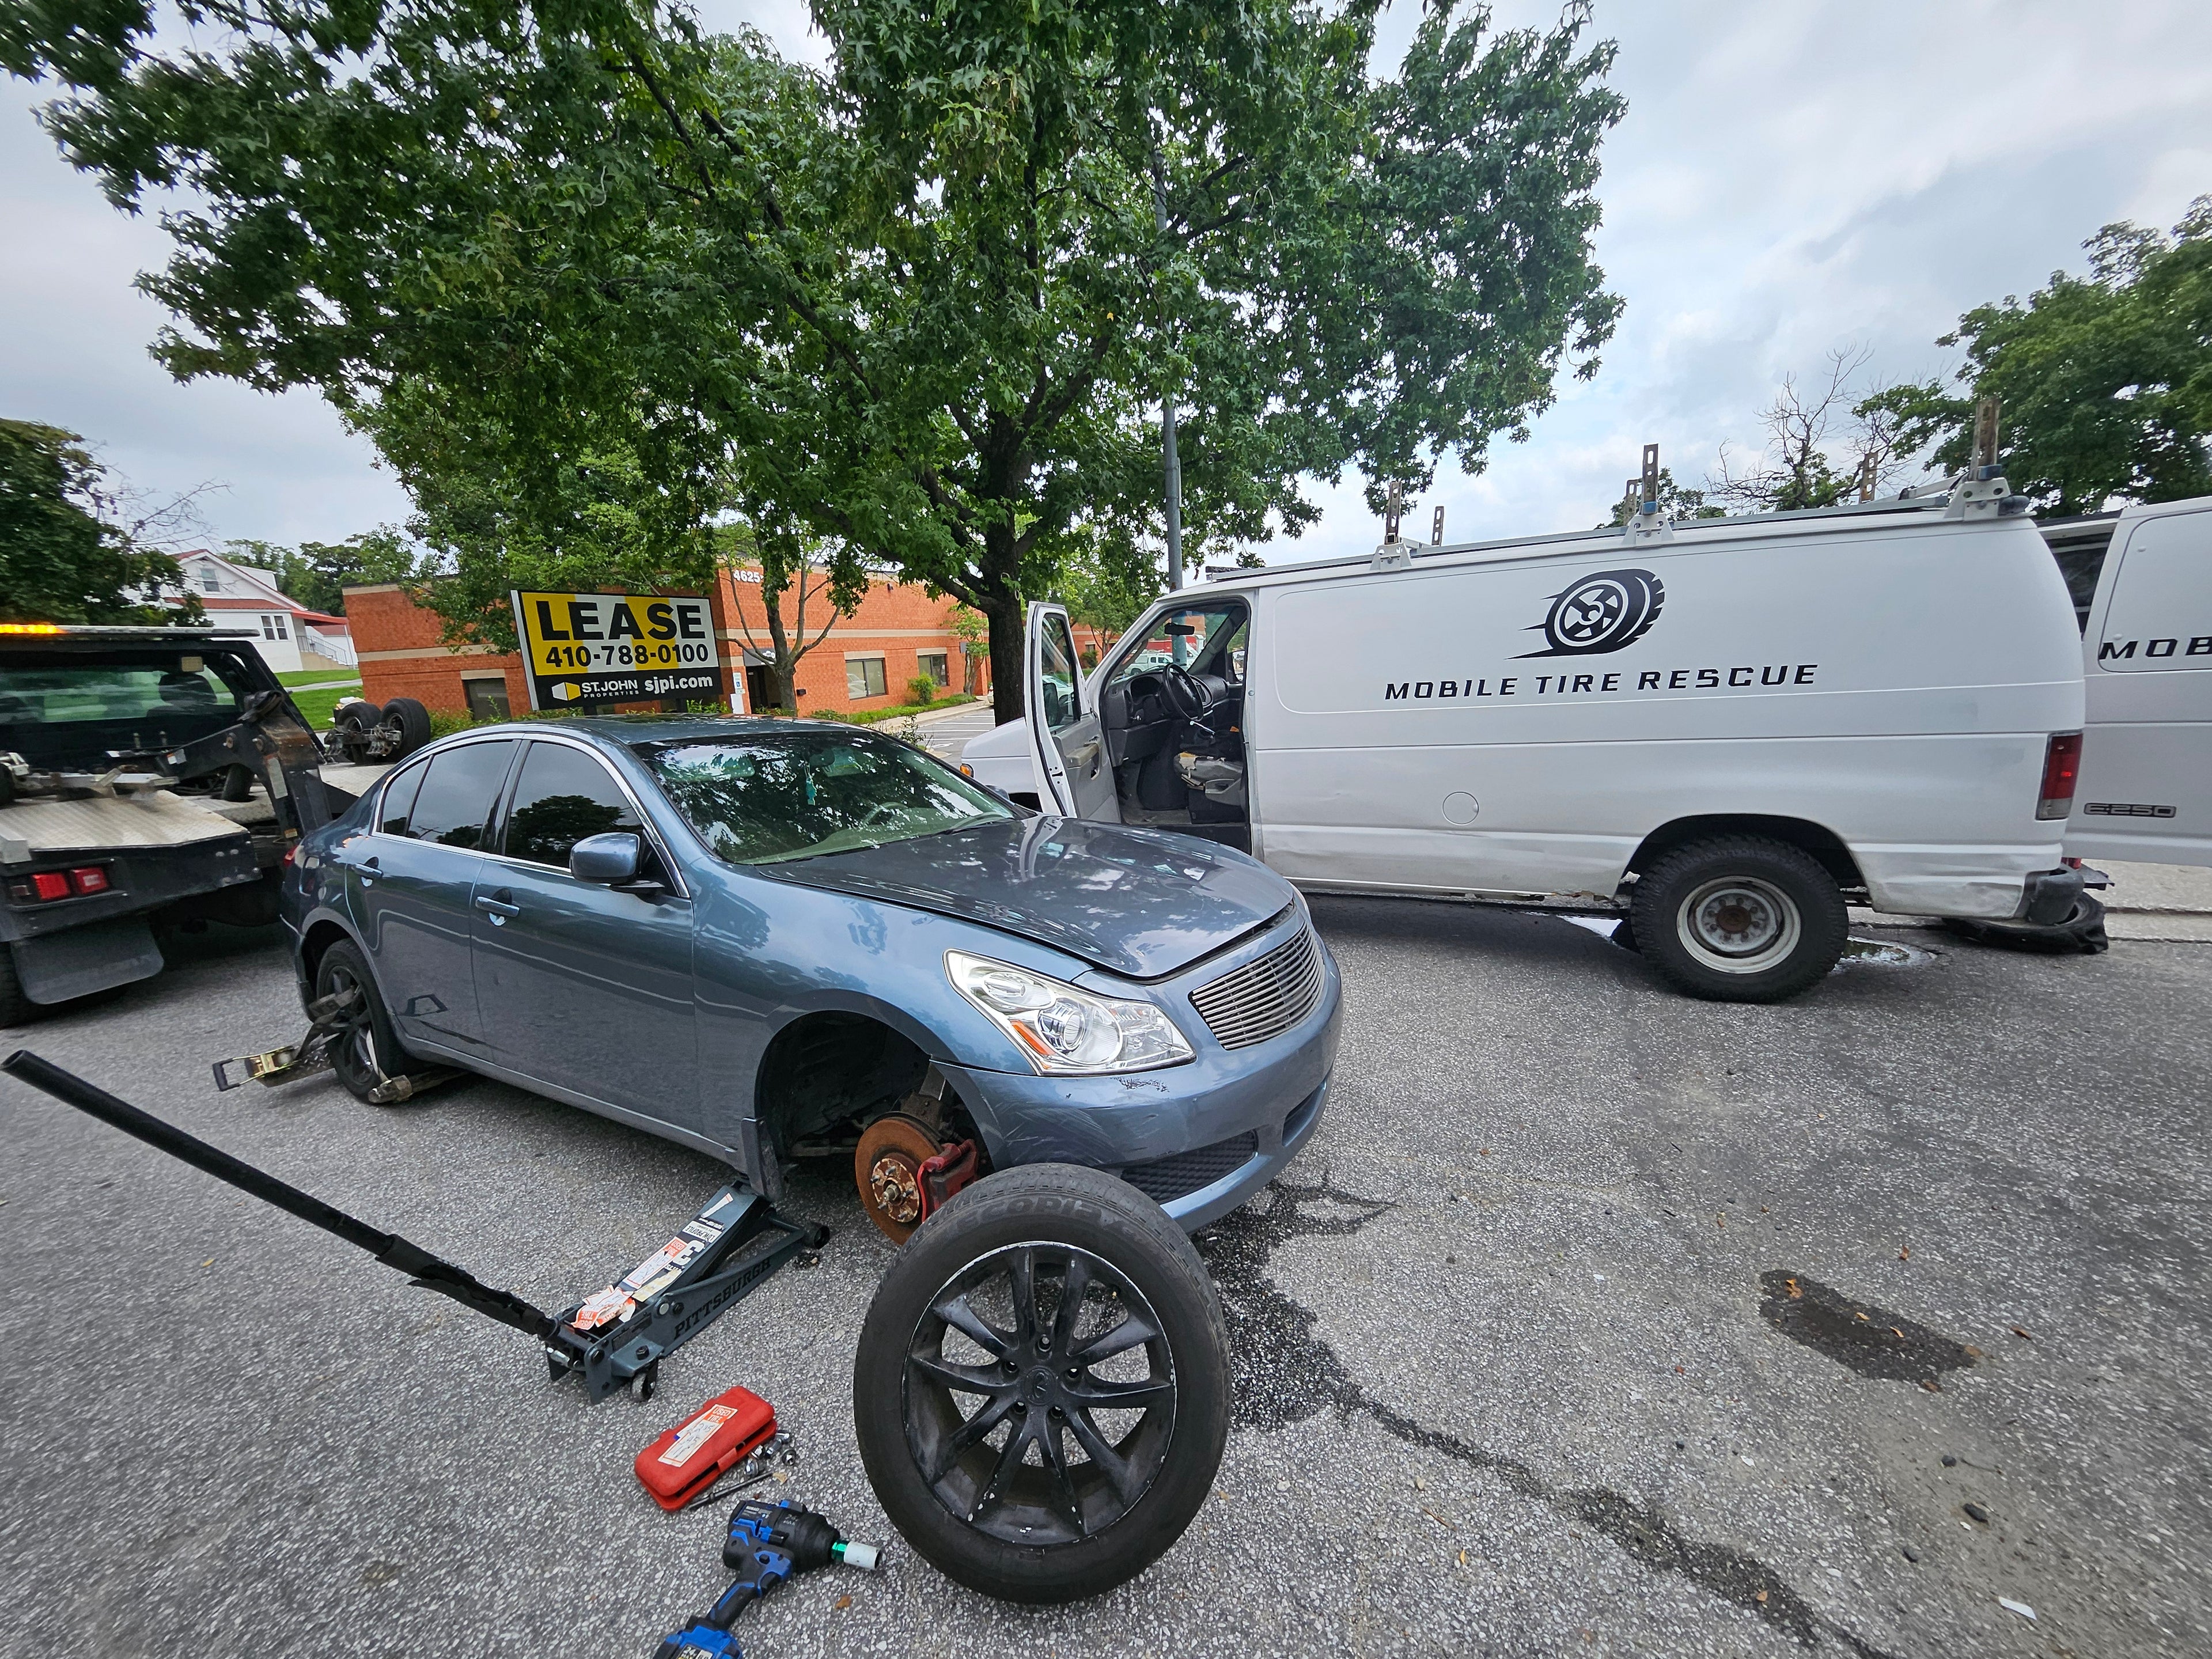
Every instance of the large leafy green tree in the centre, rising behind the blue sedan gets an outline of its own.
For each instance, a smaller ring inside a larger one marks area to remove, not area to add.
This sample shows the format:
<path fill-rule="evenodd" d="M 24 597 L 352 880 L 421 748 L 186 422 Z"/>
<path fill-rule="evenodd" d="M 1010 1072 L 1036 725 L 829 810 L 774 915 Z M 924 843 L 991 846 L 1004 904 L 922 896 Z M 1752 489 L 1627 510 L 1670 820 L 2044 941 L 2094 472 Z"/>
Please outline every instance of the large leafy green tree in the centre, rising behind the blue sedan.
<path fill-rule="evenodd" d="M 529 493 L 586 456 L 637 465 L 608 557 L 697 568 L 732 493 L 987 617 L 1002 717 L 1022 597 L 1157 544 L 1161 400 L 1203 555 L 1310 524 L 1307 473 L 1480 469 L 1619 310 L 1582 4 L 1442 0 L 1396 77 L 1376 0 L 814 0 L 823 75 L 655 0 L 177 11 L 177 49 L 153 0 L 0 11 L 117 206 L 184 192 L 175 374 L 321 387 L 411 487 L 495 489 L 425 518 L 498 515 L 509 560 L 586 562 Z"/>

